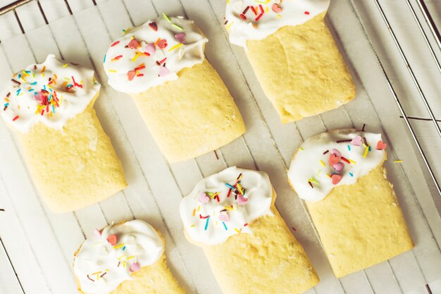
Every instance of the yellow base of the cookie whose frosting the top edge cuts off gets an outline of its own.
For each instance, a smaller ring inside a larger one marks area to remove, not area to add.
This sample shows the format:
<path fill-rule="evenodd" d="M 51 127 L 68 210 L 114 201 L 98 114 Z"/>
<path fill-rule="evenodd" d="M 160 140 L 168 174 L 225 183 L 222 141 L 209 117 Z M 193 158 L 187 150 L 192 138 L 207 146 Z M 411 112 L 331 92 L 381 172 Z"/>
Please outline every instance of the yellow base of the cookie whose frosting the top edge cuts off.
<path fill-rule="evenodd" d="M 355 86 L 321 13 L 247 41 L 247 56 L 282 123 L 299 121 L 346 104 Z"/>

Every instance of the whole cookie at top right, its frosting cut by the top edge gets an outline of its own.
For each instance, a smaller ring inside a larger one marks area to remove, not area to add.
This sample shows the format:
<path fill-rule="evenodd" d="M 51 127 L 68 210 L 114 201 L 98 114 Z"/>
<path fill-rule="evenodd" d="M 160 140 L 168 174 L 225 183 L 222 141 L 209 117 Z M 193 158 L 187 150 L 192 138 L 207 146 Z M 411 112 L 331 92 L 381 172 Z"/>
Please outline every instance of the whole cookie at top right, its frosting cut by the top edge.
<path fill-rule="evenodd" d="M 230 0 L 225 27 L 244 47 L 283 123 L 355 97 L 354 83 L 323 18 L 330 0 Z"/>

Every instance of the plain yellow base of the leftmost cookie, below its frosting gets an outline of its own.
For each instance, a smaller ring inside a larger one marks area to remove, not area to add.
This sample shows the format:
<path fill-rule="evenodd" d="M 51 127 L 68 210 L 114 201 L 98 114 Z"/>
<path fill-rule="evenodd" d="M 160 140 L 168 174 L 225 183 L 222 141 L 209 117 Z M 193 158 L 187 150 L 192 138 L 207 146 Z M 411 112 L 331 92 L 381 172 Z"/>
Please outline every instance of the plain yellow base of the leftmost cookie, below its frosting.
<path fill-rule="evenodd" d="M 53 212 L 70 212 L 123 190 L 123 166 L 93 104 L 63 130 L 39 123 L 20 133 L 23 155 L 40 194 Z"/>

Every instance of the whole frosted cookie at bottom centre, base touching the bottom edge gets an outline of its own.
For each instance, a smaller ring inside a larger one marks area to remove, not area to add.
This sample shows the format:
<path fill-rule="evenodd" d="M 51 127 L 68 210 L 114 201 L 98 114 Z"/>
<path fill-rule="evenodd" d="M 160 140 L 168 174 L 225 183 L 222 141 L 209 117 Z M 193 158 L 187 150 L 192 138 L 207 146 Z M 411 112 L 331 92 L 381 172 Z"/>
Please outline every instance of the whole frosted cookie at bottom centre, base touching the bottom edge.
<path fill-rule="evenodd" d="M 266 173 L 232 166 L 182 200 L 187 240 L 202 247 L 223 293 L 297 294 L 318 283 L 275 197 Z"/>

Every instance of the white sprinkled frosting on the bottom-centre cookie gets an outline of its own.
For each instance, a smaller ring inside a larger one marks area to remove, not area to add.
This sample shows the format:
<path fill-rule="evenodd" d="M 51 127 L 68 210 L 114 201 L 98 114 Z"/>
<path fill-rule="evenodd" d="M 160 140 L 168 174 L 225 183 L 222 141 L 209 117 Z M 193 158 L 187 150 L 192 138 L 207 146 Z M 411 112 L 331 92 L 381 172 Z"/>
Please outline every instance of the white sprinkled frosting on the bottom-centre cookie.
<path fill-rule="evenodd" d="M 180 216 L 194 242 L 216 245 L 231 235 L 251 233 L 251 221 L 273 215 L 272 200 L 273 188 L 266 173 L 232 166 L 201 180 L 182 199 Z"/>

